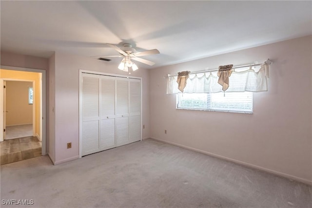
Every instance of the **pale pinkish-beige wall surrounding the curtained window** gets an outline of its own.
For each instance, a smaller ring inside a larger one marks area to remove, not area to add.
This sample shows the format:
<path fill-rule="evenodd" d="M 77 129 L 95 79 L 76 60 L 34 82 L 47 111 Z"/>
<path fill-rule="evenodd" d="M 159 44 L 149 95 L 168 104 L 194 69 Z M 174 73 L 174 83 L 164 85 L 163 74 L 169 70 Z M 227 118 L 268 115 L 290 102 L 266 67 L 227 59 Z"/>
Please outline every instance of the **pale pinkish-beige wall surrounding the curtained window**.
<path fill-rule="evenodd" d="M 151 137 L 311 183 L 311 45 L 308 36 L 151 70 Z M 269 90 L 254 93 L 254 114 L 176 110 L 166 95 L 166 74 L 267 58 Z"/>

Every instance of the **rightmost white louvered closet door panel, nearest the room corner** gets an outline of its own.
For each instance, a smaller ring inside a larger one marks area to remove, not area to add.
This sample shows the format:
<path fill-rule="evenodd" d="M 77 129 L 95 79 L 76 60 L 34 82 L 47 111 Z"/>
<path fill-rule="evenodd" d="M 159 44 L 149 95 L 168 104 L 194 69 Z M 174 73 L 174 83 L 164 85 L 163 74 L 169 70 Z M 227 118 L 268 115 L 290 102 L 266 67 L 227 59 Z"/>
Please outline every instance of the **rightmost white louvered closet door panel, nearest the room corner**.
<path fill-rule="evenodd" d="M 131 143 L 141 140 L 141 83 L 139 79 L 129 79 L 129 83 L 129 143 Z"/>

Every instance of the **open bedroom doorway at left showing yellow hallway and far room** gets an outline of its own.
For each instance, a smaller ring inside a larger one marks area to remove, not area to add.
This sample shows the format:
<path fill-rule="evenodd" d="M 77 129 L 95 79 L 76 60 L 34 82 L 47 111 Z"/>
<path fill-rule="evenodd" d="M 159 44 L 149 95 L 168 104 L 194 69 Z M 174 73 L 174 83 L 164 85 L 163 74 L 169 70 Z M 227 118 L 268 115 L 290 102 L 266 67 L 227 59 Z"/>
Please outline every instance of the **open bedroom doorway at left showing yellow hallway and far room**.
<path fill-rule="evenodd" d="M 46 154 L 45 85 L 45 70 L 1 66 L 1 165 Z M 22 87 L 23 95 L 17 86 Z M 16 102 L 26 104 L 15 108 Z"/>

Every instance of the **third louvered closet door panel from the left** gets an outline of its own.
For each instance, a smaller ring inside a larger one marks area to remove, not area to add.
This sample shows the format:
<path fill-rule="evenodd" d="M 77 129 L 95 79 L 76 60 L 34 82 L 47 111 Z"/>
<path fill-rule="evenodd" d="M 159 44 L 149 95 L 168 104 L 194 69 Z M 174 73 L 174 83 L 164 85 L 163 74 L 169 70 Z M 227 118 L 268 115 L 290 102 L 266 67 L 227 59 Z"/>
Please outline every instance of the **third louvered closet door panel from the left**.
<path fill-rule="evenodd" d="M 116 146 L 129 144 L 129 83 L 116 77 Z"/>

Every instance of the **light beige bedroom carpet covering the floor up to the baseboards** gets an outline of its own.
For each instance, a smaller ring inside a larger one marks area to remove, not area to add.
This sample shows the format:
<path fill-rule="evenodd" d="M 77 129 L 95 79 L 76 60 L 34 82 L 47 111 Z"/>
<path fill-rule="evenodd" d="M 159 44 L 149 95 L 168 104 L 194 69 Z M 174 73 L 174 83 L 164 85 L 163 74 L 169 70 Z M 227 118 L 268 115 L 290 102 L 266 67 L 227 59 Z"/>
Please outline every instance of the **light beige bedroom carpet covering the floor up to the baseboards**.
<path fill-rule="evenodd" d="M 311 186 L 152 139 L 57 166 L 48 156 L 2 165 L 0 185 L 1 200 L 36 208 L 312 207 Z"/>

